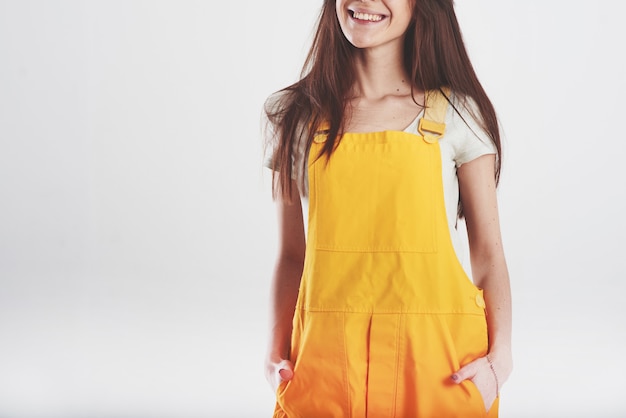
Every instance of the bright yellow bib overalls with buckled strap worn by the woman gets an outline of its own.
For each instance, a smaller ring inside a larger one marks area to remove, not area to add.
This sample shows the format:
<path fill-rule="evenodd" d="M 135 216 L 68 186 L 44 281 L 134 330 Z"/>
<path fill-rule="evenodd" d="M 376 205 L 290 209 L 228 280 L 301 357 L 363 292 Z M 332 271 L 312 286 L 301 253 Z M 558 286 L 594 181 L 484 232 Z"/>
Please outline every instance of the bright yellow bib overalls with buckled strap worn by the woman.
<path fill-rule="evenodd" d="M 456 257 L 441 154 L 448 102 L 427 95 L 420 135 L 346 133 L 309 157 L 309 225 L 293 319 L 294 377 L 275 418 L 497 417 L 450 376 L 487 353 L 482 290 Z"/>

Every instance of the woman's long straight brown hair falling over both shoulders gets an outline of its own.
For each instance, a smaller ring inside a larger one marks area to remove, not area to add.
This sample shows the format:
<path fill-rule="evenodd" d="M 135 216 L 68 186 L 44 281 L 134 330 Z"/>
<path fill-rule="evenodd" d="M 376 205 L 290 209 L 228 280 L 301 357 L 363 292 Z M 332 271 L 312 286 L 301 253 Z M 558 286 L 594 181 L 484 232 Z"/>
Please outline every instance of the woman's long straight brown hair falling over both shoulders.
<path fill-rule="evenodd" d="M 498 120 L 465 49 L 453 0 L 415 0 L 412 10 L 404 39 L 404 67 L 412 89 L 449 87 L 457 96 L 473 99 L 479 112 L 476 119 L 497 149 L 497 183 L 501 166 Z M 330 156 L 335 148 L 343 133 L 348 93 L 356 80 L 355 52 L 339 26 L 335 0 L 324 0 L 300 80 L 277 92 L 276 100 L 268 100 L 265 108 L 277 139 L 271 157 L 274 179 L 278 179 L 273 182 L 275 197 L 291 196 L 292 178 L 299 179 L 301 190 L 306 188 L 306 155 L 322 122 L 328 124 L 323 154 Z M 304 158 L 294 166 L 296 147 L 303 142 Z"/>

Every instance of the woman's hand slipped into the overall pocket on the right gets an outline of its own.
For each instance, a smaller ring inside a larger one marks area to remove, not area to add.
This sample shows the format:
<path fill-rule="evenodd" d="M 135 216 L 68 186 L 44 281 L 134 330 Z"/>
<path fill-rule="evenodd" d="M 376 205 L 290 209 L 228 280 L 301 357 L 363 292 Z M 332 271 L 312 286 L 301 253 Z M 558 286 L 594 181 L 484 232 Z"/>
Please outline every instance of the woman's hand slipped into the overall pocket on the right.
<path fill-rule="evenodd" d="M 480 392 L 485 410 L 489 412 L 499 395 L 504 380 L 508 378 L 510 373 L 504 373 L 502 369 L 501 372 L 498 370 L 499 367 L 491 362 L 491 357 L 480 357 L 454 373 L 452 380 L 457 384 L 464 380 L 470 380 Z"/>

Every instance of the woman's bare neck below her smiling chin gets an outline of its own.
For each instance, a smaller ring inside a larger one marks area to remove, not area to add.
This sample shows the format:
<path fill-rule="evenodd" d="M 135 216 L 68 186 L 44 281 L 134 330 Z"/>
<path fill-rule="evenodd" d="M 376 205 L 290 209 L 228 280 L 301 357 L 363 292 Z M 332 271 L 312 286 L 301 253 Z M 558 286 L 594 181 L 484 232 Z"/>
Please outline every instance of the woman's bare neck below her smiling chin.
<path fill-rule="evenodd" d="M 355 69 L 354 97 L 380 99 L 411 93 L 411 80 L 403 66 L 401 42 L 360 50 Z"/>

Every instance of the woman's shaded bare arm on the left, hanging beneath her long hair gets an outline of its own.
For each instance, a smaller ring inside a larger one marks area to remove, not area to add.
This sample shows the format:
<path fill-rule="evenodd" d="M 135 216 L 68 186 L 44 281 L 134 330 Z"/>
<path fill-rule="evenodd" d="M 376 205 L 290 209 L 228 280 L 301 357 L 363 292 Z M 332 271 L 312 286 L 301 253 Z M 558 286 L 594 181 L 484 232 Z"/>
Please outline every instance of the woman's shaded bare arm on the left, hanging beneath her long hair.
<path fill-rule="evenodd" d="M 270 335 L 265 373 L 275 391 L 281 380 L 291 380 L 289 361 L 292 321 L 306 248 L 298 187 L 292 183 L 291 199 L 277 198 L 279 247 L 270 296 Z M 290 201 L 289 201 L 290 200 Z"/>

